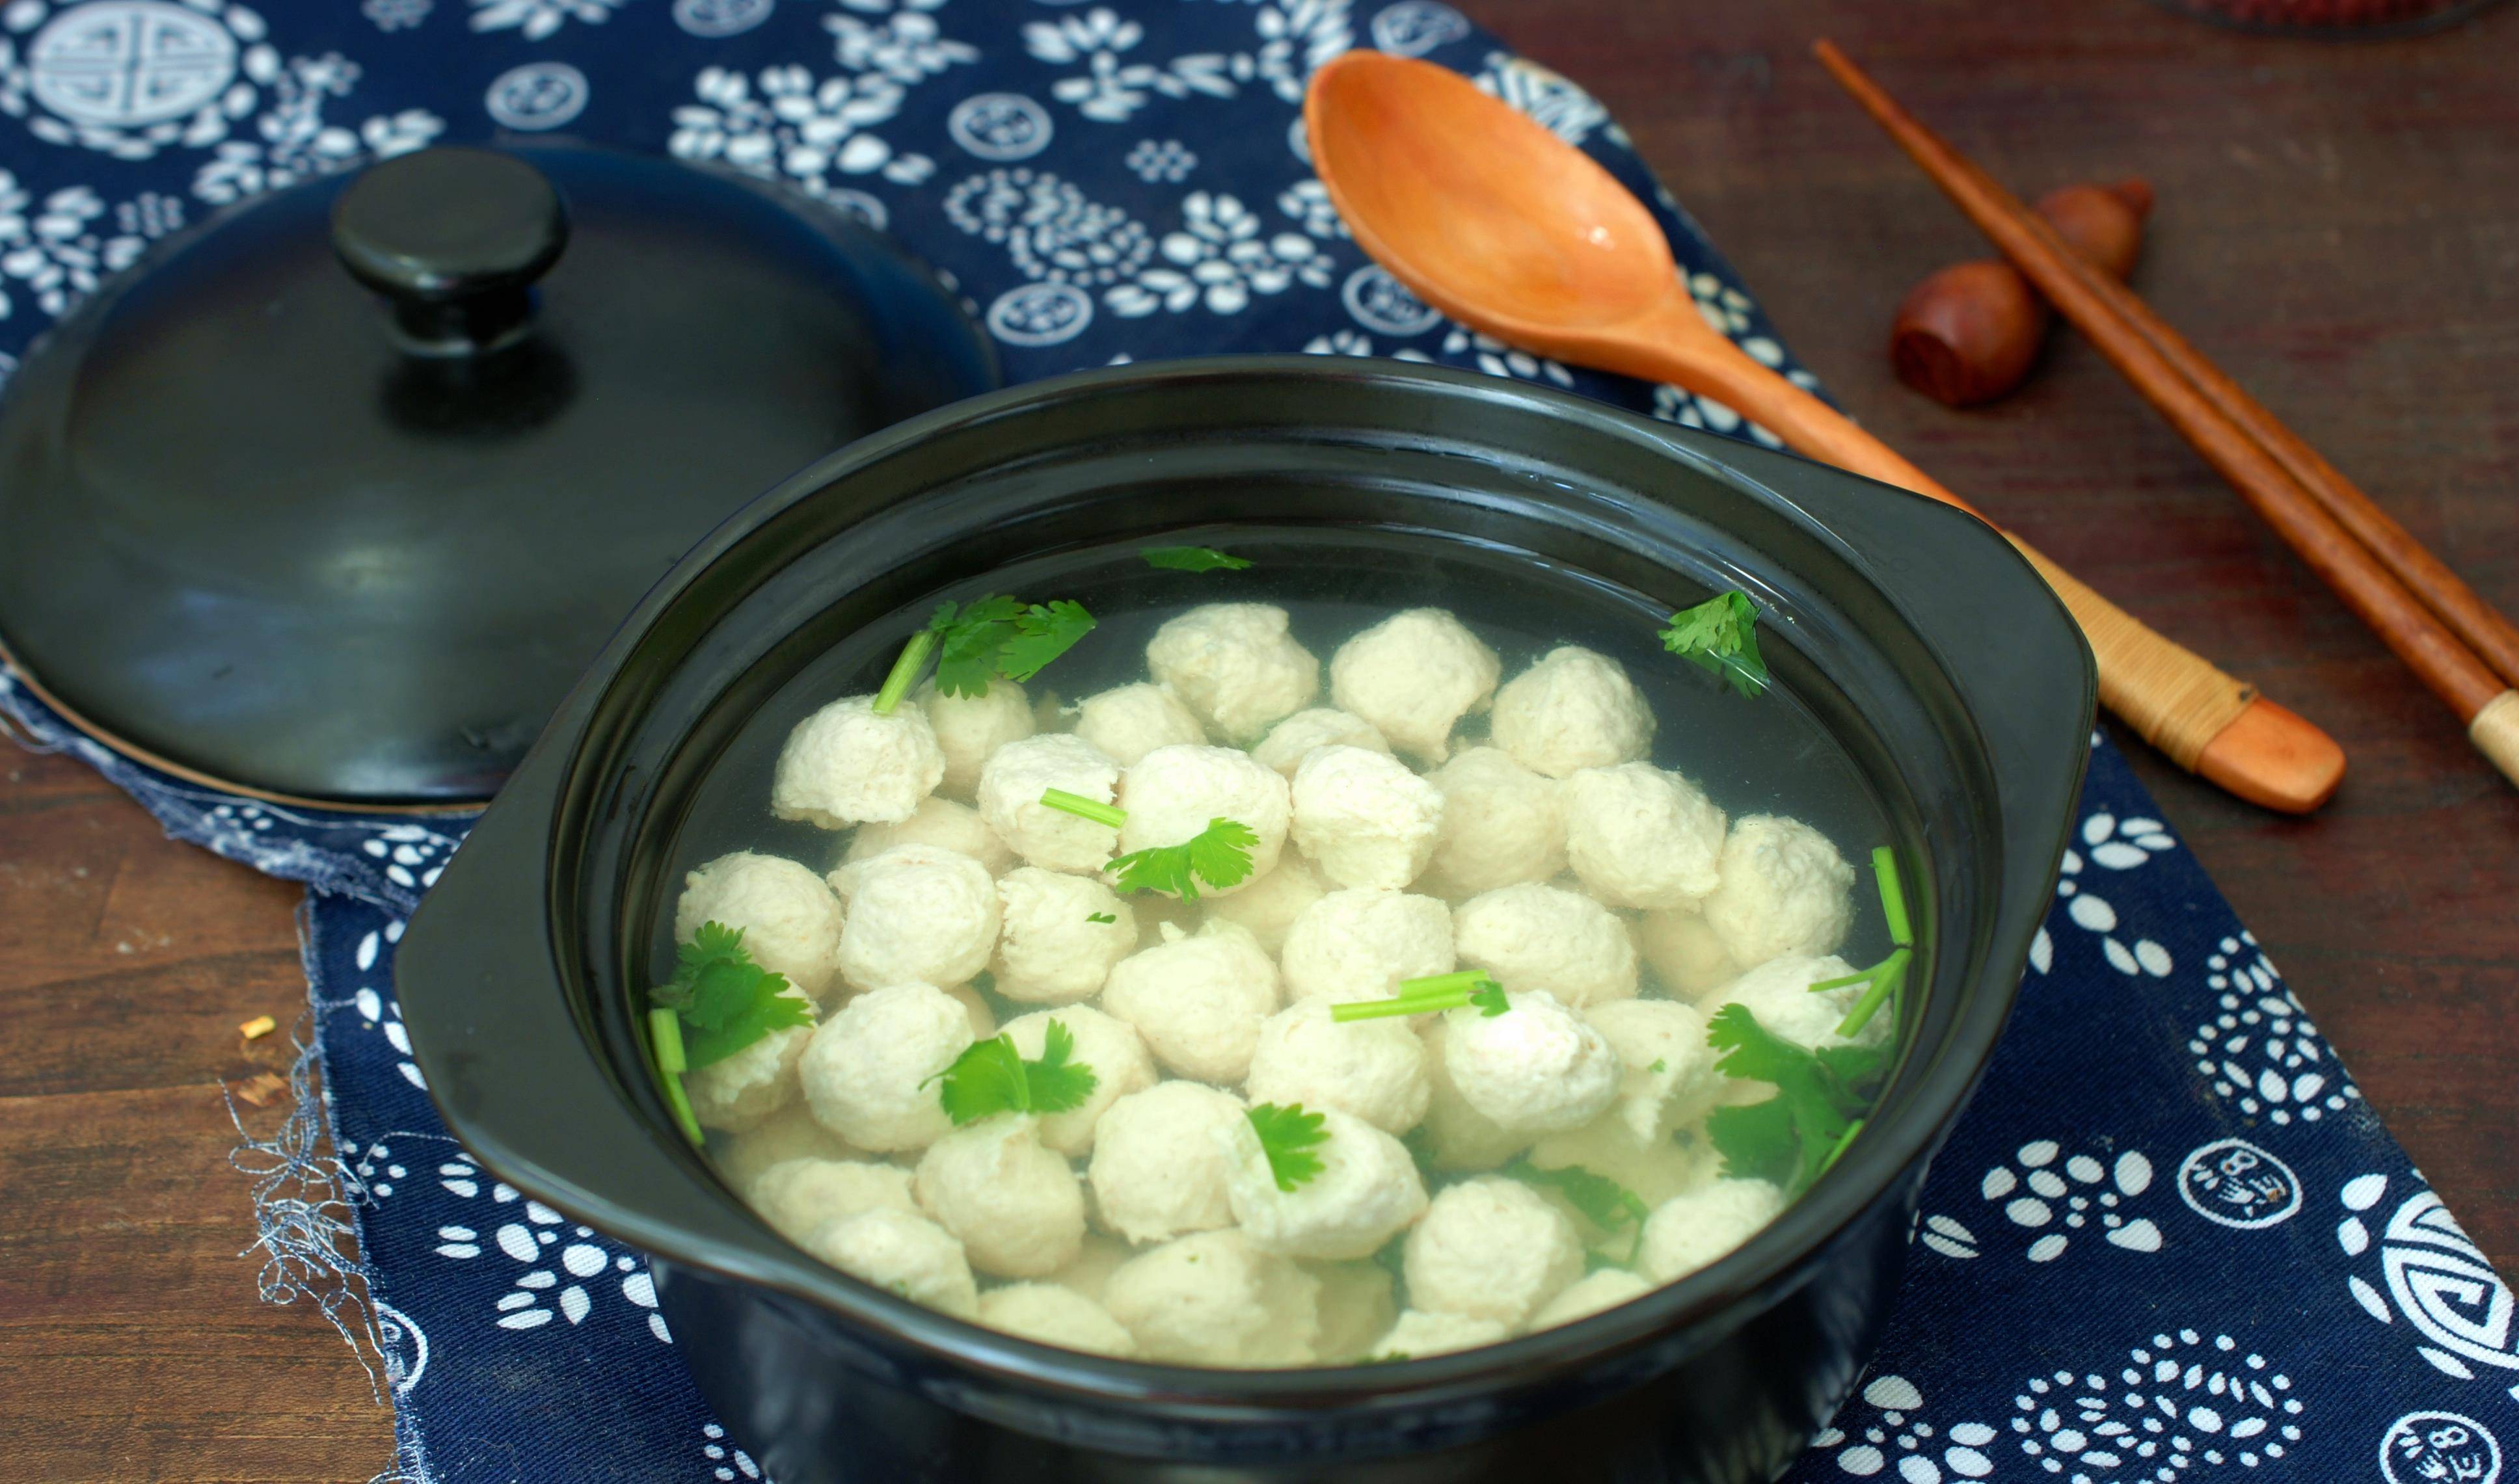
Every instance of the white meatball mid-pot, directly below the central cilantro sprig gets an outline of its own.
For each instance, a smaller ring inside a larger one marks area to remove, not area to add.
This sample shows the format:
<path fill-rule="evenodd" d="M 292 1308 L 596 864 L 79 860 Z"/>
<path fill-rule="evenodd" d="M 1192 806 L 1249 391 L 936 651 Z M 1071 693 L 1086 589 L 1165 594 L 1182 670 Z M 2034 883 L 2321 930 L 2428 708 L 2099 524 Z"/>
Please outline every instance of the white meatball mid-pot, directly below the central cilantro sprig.
<path fill-rule="evenodd" d="M 1136 1025 L 1176 1076 L 1237 1083 L 1252 1068 L 1260 1023 L 1277 1010 L 1277 965 L 1232 922 L 1197 935 L 1164 925 L 1164 942 L 1118 960 L 1103 1010 Z"/>

